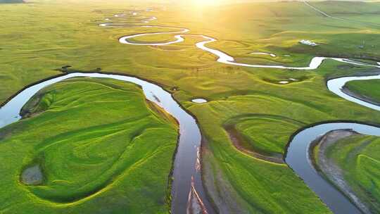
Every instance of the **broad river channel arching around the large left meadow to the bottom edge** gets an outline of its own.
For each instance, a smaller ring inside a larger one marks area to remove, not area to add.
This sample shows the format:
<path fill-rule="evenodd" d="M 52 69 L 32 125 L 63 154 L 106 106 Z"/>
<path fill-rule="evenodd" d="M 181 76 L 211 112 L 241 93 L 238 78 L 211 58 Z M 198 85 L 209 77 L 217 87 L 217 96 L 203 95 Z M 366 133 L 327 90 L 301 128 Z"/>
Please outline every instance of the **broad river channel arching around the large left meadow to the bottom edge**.
<path fill-rule="evenodd" d="M 170 113 L 179 122 L 179 142 L 175 156 L 173 177 L 175 180 L 172 184 L 172 210 L 173 213 L 186 213 L 186 206 L 189 201 L 189 192 L 198 196 L 198 199 L 205 199 L 205 192 L 201 182 L 199 146 L 201 146 L 201 132 L 196 120 L 186 113 L 179 106 L 177 101 L 172 98 L 169 92 L 156 84 L 140 80 L 137 77 L 128 77 L 126 75 L 110 75 L 103 73 L 69 73 L 60 77 L 34 84 L 27 87 L 22 92 L 14 96 L 3 107 L 0 108 L 0 128 L 12 122 L 21 119 L 20 110 L 25 103 L 29 101 L 34 94 L 40 89 L 47 87 L 56 82 L 61 82 L 72 77 L 96 77 L 110 78 L 125 82 L 138 84 L 144 91 L 146 99 L 156 103 Z M 208 201 L 198 201 L 201 206 L 213 213 L 213 208 Z"/>

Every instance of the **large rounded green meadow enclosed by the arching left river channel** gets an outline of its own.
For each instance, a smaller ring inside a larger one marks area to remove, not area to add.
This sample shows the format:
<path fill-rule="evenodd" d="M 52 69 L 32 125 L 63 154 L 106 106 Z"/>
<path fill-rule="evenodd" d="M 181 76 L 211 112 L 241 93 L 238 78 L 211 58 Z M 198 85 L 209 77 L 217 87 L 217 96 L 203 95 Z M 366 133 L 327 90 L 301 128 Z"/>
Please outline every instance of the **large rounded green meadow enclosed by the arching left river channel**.
<path fill-rule="evenodd" d="M 0 131 L 1 213 L 167 213 L 177 124 L 134 84 L 75 78 Z M 39 185 L 20 174 L 42 168 Z"/>

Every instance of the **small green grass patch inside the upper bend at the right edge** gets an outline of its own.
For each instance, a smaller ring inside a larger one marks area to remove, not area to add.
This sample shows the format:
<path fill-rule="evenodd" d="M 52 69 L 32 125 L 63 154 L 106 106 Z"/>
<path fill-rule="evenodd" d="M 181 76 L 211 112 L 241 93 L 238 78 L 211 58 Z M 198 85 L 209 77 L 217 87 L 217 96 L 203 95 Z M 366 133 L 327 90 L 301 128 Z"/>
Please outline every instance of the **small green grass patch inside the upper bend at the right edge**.
<path fill-rule="evenodd" d="M 360 94 L 368 99 L 380 103 L 380 80 L 356 80 L 347 82 L 346 86 L 350 92 Z"/>

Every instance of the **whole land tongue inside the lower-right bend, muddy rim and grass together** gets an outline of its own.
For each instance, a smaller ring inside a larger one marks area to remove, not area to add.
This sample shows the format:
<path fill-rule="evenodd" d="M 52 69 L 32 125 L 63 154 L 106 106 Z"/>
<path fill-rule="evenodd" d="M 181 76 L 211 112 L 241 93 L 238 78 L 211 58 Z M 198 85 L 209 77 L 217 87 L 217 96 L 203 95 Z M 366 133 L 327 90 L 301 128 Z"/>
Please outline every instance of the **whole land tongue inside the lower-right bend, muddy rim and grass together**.
<path fill-rule="evenodd" d="M 310 152 L 319 173 L 340 189 L 362 213 L 378 213 L 379 137 L 334 130 L 314 142 Z"/>

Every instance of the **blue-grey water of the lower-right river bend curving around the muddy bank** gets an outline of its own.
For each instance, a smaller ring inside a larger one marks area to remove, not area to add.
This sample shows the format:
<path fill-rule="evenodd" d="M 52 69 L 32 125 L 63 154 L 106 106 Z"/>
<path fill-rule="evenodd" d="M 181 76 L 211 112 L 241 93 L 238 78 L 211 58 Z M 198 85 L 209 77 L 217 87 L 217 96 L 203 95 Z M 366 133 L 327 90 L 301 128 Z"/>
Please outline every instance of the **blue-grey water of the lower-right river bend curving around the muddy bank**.
<path fill-rule="evenodd" d="M 286 164 L 289 166 L 289 168 L 300 178 L 300 180 L 302 180 L 306 185 L 308 185 L 308 187 L 312 189 L 312 191 L 314 191 L 317 196 L 319 196 L 319 199 L 322 201 L 322 203 L 324 203 L 325 206 L 329 207 L 330 210 L 333 210 L 336 213 L 347 213 L 346 211 L 341 212 L 342 208 L 343 210 L 347 210 L 348 213 L 362 213 L 357 208 L 357 206 L 355 206 L 355 204 L 348 199 L 347 196 L 345 196 L 339 189 L 336 188 L 336 186 L 334 186 L 334 184 L 331 184 L 331 182 L 329 182 L 329 180 L 327 180 L 326 177 L 322 176 L 317 172 L 315 166 L 312 165 L 310 161 L 310 156 L 308 153 L 309 146 L 312 143 L 312 141 L 315 141 L 315 139 L 318 139 L 318 137 L 326 134 L 331 130 L 354 129 L 355 131 L 358 130 L 358 132 L 360 133 L 372 135 L 370 133 L 373 133 L 374 130 L 379 128 L 380 124 L 372 121 L 362 122 L 357 120 L 325 120 L 321 122 L 312 123 L 310 125 L 300 128 L 291 135 L 289 142 L 286 145 L 286 153 L 284 155 L 284 160 Z M 325 131 L 322 131 L 320 135 L 312 134 L 313 137 L 307 137 L 306 135 L 303 135 L 303 132 L 310 132 L 309 130 L 314 129 L 316 129 L 317 132 L 319 132 L 319 129 Z M 300 138 L 303 137 L 306 137 L 307 140 L 300 142 Z M 298 141 L 297 147 L 294 146 L 296 144 L 295 141 Z M 305 151 L 301 152 L 297 148 L 300 147 L 301 150 L 303 150 L 302 147 L 305 146 L 303 144 L 305 144 L 306 147 Z M 305 155 L 305 158 L 296 156 L 296 154 L 300 152 Z M 340 203 L 344 207 L 335 206 L 335 204 L 331 203 L 331 201 L 327 201 L 329 200 L 329 198 L 331 198 L 331 196 L 336 197 L 336 194 L 338 194 L 338 203 Z M 355 212 L 353 209 L 357 211 Z"/>

